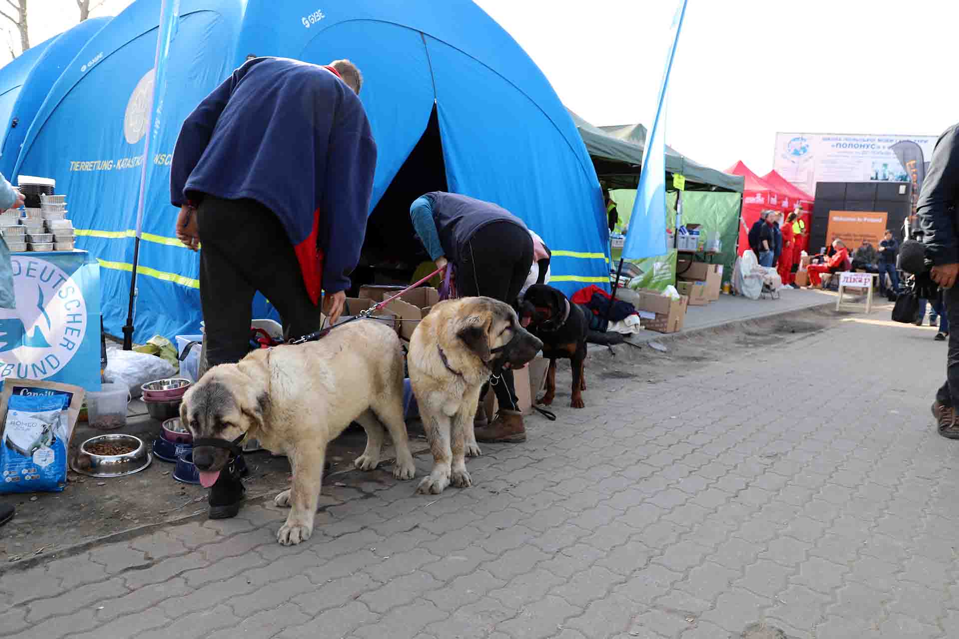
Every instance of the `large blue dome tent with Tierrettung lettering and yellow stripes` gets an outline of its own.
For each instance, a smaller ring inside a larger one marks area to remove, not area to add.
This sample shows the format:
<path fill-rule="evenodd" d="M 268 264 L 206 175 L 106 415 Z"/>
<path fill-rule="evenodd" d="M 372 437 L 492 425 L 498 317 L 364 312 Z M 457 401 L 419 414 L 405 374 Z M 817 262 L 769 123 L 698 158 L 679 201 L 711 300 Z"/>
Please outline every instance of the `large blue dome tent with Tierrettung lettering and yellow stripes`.
<path fill-rule="evenodd" d="M 105 267 L 114 334 L 126 322 L 159 4 L 138 0 L 87 43 L 40 108 L 17 167 L 57 179 L 67 195 L 78 246 Z M 565 292 L 608 285 L 599 185 L 573 121 L 532 60 L 472 2 L 338 0 L 319 11 L 306 0 L 182 0 L 178 30 L 148 171 L 135 339 L 199 326 L 198 258 L 173 237 L 170 155 L 183 119 L 249 55 L 358 64 L 379 151 L 372 206 L 435 104 L 449 190 L 525 219 L 552 249 L 553 283 Z"/>

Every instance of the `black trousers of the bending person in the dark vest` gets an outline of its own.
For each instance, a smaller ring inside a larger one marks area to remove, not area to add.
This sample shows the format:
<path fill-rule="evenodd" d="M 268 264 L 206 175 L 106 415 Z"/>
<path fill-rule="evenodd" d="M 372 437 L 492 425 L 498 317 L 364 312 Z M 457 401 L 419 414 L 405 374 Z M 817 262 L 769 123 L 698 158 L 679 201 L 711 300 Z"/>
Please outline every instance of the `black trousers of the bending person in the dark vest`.
<path fill-rule="evenodd" d="M 479 228 L 456 264 L 456 288 L 462 297 L 482 295 L 515 307 L 533 263 L 533 239 L 521 226 L 493 222 Z M 492 380 L 500 408 L 519 410 L 513 372 Z M 486 396 L 483 387 L 479 399 Z"/>

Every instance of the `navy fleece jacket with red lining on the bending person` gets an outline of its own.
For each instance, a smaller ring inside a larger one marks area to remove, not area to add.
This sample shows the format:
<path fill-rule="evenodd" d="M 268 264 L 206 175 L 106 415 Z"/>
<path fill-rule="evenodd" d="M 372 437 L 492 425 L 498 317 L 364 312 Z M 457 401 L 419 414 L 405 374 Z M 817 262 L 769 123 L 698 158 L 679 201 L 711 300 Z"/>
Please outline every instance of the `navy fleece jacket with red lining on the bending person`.
<path fill-rule="evenodd" d="M 356 93 L 328 67 L 257 57 L 190 114 L 171 203 L 254 199 L 279 218 L 316 302 L 350 287 L 366 232 L 376 144 Z M 255 229 L 251 229 L 255 233 Z"/>

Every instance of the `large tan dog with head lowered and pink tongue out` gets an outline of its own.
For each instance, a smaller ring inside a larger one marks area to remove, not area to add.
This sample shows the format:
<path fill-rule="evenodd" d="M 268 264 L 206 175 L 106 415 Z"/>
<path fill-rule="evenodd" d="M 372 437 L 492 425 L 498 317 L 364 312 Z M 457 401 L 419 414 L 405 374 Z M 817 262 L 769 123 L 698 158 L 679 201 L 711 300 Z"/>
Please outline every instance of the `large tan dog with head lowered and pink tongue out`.
<path fill-rule="evenodd" d="M 292 488 L 275 498 L 278 506 L 291 507 L 276 535 L 284 545 L 313 534 L 326 445 L 350 422 L 366 431 L 357 468 L 372 470 L 380 463 L 386 424 L 396 446 L 393 475 L 412 479 L 415 473 L 403 421 L 403 350 L 396 332 L 373 320 L 210 369 L 183 397 L 180 419 L 194 438 L 230 442 L 246 435 L 289 457 Z M 212 486 L 229 451 L 196 446 L 193 458 L 203 486 Z"/>

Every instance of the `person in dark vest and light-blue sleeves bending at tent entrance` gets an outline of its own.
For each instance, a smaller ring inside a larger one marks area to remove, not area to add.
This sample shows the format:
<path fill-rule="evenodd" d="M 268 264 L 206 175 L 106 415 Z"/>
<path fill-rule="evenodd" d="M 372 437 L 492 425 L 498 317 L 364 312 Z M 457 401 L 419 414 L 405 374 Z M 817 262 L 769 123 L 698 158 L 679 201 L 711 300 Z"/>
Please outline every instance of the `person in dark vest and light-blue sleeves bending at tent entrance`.
<path fill-rule="evenodd" d="M 535 255 L 534 240 L 522 219 L 492 202 L 440 191 L 416 198 L 409 216 L 436 266 L 456 266 L 460 296 L 482 295 L 516 306 Z M 485 412 L 477 412 L 477 441 L 525 442 L 513 372 L 503 371 L 503 377 L 492 383 L 500 411 L 486 425 Z M 480 406 L 485 391 L 479 396 Z"/>

